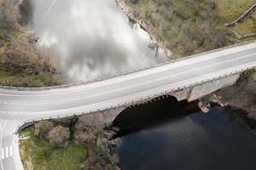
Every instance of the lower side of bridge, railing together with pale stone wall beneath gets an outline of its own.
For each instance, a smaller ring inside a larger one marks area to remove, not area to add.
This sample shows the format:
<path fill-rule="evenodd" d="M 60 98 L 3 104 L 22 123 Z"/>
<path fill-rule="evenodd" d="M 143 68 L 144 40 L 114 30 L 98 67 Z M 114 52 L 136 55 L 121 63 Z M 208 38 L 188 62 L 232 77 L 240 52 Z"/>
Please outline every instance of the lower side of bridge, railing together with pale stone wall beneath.
<path fill-rule="evenodd" d="M 87 111 L 87 112 L 78 112 L 78 113 L 72 113 L 72 114 L 63 114 L 63 115 L 59 115 L 59 116 L 39 117 L 36 119 L 27 120 L 25 122 L 20 123 L 20 125 L 16 128 L 15 133 L 19 133 L 19 131 L 21 129 L 23 129 L 27 126 L 30 126 L 35 122 L 45 121 L 45 120 L 62 119 L 62 118 L 72 118 L 73 116 L 80 116 L 83 114 L 90 114 L 90 115 L 91 114 L 102 114 L 102 112 L 105 112 L 105 111 L 113 111 L 113 110 L 117 110 L 120 108 L 131 107 L 132 105 L 140 105 L 141 103 L 145 103 L 152 99 L 160 98 L 162 96 L 172 95 L 172 96 L 176 97 L 177 100 L 187 99 L 188 101 L 193 101 L 195 99 L 201 98 L 204 95 L 211 94 L 212 92 L 217 91 L 220 88 L 224 88 L 226 86 L 232 85 L 234 82 L 236 82 L 236 80 L 239 77 L 239 74 L 242 71 L 247 71 L 249 69 L 251 69 L 251 68 L 241 69 L 239 71 L 233 71 L 233 72 L 224 74 L 222 76 L 212 77 L 212 78 L 209 78 L 209 79 L 201 81 L 201 82 L 191 83 L 188 86 L 183 86 L 180 88 L 171 89 L 169 91 L 155 93 L 153 95 L 148 95 L 147 97 L 144 97 L 144 98 L 133 99 L 129 102 L 120 103 L 118 105 L 109 105 L 108 107 L 102 107 L 97 110 L 91 110 L 91 111 Z M 227 78 L 229 80 L 227 80 Z M 209 84 L 210 84 L 210 87 L 206 88 L 206 86 L 209 86 Z M 218 84 L 218 86 L 216 86 L 216 84 Z M 206 88 L 207 90 L 202 91 L 201 90 L 202 86 L 204 86 L 204 88 Z M 113 120 L 114 117 L 117 115 L 118 114 L 112 114 L 113 117 L 108 117 L 108 120 Z"/>

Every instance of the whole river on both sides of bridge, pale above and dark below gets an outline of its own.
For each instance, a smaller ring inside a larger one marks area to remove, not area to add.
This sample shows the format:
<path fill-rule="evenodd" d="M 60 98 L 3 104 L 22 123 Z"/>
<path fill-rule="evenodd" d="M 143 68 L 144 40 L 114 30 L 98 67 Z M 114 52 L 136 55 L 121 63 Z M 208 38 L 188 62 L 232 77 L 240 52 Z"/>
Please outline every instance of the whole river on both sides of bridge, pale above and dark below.
<path fill-rule="evenodd" d="M 67 82 L 166 61 L 114 0 L 24 0 L 20 23 L 49 48 Z M 195 103 L 162 99 L 126 109 L 114 121 L 124 170 L 254 170 L 256 136 L 232 111 L 203 114 Z M 231 113 L 230 113 L 231 112 Z M 229 113 L 229 114 L 228 114 Z"/>

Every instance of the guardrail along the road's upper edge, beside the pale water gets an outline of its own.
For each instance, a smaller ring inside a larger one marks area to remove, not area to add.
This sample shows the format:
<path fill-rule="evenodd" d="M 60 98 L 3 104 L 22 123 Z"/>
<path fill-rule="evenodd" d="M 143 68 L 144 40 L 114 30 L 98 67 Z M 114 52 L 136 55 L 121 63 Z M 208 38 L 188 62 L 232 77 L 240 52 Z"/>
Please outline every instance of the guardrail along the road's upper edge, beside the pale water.
<path fill-rule="evenodd" d="M 155 68 L 155 67 L 160 67 L 160 66 L 163 66 L 163 65 L 170 65 L 170 64 L 175 63 L 175 62 L 180 61 L 180 60 L 191 59 L 191 58 L 201 56 L 203 54 L 211 54 L 213 52 L 218 52 L 218 51 L 221 51 L 221 50 L 224 50 L 224 49 L 227 49 L 227 48 L 234 48 L 234 47 L 238 47 L 238 46 L 243 46 L 243 45 L 253 43 L 253 42 L 256 43 L 256 41 L 241 42 L 241 43 L 233 44 L 233 45 L 230 45 L 230 46 L 227 46 L 227 47 L 224 47 L 224 48 L 213 49 L 213 50 L 201 53 L 201 54 L 193 54 L 193 55 L 189 55 L 188 57 L 183 57 L 181 59 L 169 60 L 169 61 L 166 61 L 164 63 L 151 65 L 151 66 L 148 66 L 148 67 L 144 67 L 142 69 L 137 69 L 137 70 L 133 70 L 133 71 L 126 71 L 126 72 L 119 73 L 119 74 L 109 76 L 109 77 L 96 78 L 94 80 L 87 81 L 87 82 L 75 82 L 75 83 L 63 84 L 63 85 L 58 85 L 58 86 L 50 86 L 50 87 L 44 87 L 44 88 L 22 88 L 22 87 L 13 87 L 13 86 L 0 86 L 0 88 L 15 89 L 15 90 L 20 90 L 20 91 L 22 91 L 22 90 L 31 90 L 31 91 L 33 91 L 33 90 L 49 90 L 49 89 L 55 89 L 55 88 L 68 88 L 68 87 L 72 87 L 72 86 L 85 85 L 85 84 L 92 83 L 92 82 L 101 82 L 101 81 L 108 80 L 108 79 L 111 79 L 111 78 L 114 78 L 114 77 L 125 76 L 125 75 L 132 74 L 132 73 L 135 73 L 135 72 L 138 72 L 138 71 L 146 71 L 146 70 L 149 70 L 149 69 L 152 69 L 152 68 Z"/>

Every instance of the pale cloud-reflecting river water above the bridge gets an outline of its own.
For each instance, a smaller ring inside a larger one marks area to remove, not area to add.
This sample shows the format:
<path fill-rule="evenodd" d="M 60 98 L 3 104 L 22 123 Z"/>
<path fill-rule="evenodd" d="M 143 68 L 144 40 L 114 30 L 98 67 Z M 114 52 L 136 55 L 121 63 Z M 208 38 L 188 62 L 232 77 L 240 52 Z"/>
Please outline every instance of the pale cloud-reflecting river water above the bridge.
<path fill-rule="evenodd" d="M 24 0 L 20 23 L 49 48 L 69 82 L 87 81 L 166 61 L 162 49 L 129 22 L 114 0 Z"/>

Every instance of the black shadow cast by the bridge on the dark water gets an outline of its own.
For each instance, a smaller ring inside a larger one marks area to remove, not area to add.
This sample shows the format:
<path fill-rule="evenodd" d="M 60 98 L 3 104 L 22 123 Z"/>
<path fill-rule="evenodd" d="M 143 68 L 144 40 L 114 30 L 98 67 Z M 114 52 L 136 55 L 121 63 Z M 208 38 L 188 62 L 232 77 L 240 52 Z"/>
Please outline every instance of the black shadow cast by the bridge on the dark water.
<path fill-rule="evenodd" d="M 175 97 L 169 96 L 126 108 L 113 121 L 113 127 L 120 128 L 115 138 L 154 127 L 160 123 L 176 121 L 183 116 L 198 112 L 200 108 L 197 102 L 177 101 Z"/>

